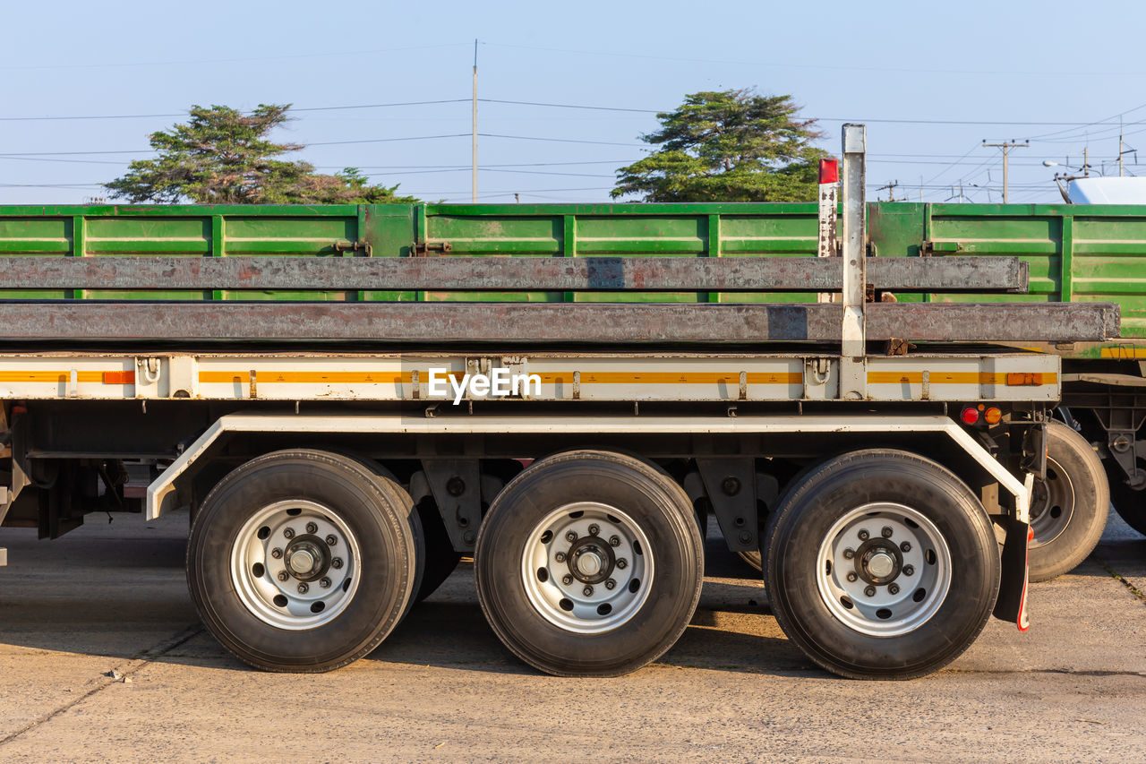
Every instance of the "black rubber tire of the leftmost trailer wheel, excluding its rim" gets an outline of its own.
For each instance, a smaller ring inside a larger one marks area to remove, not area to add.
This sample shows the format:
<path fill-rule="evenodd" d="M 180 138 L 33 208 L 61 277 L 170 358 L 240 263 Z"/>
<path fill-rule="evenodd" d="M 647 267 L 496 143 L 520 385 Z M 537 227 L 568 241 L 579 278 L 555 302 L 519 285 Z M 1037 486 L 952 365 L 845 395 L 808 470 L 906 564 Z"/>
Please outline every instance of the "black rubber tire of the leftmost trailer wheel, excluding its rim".
<path fill-rule="evenodd" d="M 406 613 L 416 576 L 415 540 L 400 497 L 361 461 L 277 451 L 233 470 L 207 494 L 187 545 L 187 584 L 207 630 L 236 657 L 266 671 L 317 673 L 376 648 Z M 351 527 L 366 563 L 358 592 L 333 621 L 288 631 L 257 618 L 230 580 L 230 549 L 251 512 L 284 499 L 329 506 Z M 337 506 L 335 506 L 337 505 Z M 382 568 L 371 570 L 370 560 Z"/>

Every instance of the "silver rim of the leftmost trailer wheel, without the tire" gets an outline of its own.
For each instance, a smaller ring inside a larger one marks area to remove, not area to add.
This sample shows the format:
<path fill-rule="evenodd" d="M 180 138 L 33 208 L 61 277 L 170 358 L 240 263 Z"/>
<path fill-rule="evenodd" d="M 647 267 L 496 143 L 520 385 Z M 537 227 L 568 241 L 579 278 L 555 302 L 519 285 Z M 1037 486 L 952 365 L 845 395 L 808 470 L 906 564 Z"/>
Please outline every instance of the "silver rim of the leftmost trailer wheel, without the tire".
<path fill-rule="evenodd" d="M 277 501 L 256 512 L 231 546 L 230 577 L 257 618 L 286 630 L 336 618 L 361 579 L 358 539 L 330 508 Z"/>

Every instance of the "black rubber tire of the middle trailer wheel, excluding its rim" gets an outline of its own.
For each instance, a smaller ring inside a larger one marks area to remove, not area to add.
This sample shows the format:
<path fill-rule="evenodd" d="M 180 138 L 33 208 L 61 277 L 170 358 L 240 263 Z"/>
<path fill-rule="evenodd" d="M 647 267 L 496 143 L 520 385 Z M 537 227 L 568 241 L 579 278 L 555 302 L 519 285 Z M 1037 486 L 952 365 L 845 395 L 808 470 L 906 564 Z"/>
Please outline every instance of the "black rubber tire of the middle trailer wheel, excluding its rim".
<path fill-rule="evenodd" d="M 656 561 L 645 605 L 599 634 L 545 621 L 520 580 L 533 528 L 574 501 L 623 509 L 641 523 Z M 524 662 L 560 677 L 617 677 L 656 661 L 684 633 L 700 600 L 704 539 L 688 494 L 662 471 L 620 453 L 570 451 L 534 462 L 497 496 L 478 533 L 474 572 L 486 621 Z"/>

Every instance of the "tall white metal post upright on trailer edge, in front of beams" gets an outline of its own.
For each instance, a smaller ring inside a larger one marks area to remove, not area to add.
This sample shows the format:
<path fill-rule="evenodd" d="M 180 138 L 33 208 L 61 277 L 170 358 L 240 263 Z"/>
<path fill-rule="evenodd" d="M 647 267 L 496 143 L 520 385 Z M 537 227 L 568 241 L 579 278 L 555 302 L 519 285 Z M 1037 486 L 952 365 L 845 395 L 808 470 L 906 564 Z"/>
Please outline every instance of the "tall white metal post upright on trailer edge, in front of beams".
<path fill-rule="evenodd" d="M 866 172 L 864 151 L 868 130 L 864 125 L 843 125 L 843 327 L 840 357 L 840 397 L 856 400 L 868 397 L 866 326 L 864 284 L 868 282 L 864 258 Z"/>

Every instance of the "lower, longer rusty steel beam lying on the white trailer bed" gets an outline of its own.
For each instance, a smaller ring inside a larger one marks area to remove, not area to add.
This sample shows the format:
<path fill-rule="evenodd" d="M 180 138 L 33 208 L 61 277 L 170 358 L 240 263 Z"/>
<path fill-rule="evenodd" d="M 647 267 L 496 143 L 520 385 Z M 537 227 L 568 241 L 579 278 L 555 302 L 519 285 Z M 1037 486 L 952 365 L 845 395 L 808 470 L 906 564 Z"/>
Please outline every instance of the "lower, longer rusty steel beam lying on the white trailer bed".
<path fill-rule="evenodd" d="M 5 302 L 2 341 L 839 342 L 835 304 Z M 1109 303 L 870 303 L 869 340 L 1096 342 Z M 862 352 L 862 351 L 861 351 Z"/>

